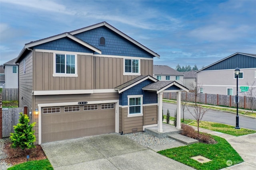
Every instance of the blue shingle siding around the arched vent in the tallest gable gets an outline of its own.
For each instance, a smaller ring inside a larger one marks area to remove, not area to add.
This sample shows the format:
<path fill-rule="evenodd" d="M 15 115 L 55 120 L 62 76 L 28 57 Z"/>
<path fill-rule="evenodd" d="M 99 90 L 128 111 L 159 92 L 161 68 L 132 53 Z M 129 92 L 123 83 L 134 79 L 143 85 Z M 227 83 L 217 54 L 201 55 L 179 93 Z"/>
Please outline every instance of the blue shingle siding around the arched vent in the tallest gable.
<path fill-rule="evenodd" d="M 100 49 L 103 55 L 154 57 L 105 26 L 78 33 L 74 36 Z M 105 38 L 105 46 L 100 45 L 100 37 Z"/>

